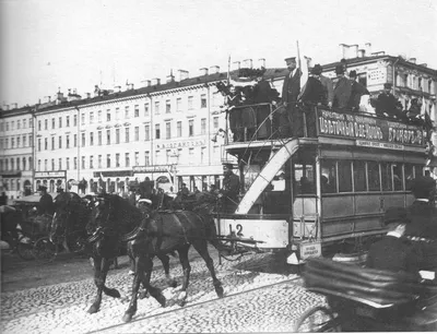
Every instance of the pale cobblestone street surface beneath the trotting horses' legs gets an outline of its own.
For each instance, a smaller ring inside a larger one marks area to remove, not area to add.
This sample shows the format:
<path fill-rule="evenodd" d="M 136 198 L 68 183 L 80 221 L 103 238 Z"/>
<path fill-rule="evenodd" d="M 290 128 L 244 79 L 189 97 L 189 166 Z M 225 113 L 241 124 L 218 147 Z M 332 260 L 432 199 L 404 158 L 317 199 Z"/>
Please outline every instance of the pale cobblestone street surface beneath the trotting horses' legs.
<path fill-rule="evenodd" d="M 212 252 L 211 252 L 212 253 Z M 213 255 L 213 253 L 212 253 Z M 38 288 L 4 293 L 1 296 L 2 333 L 217 333 L 217 332 L 283 332 L 291 331 L 293 321 L 307 308 L 323 302 L 323 298 L 305 291 L 295 274 L 275 273 L 271 254 L 250 254 L 238 262 L 214 264 L 225 289 L 217 299 L 208 269 L 197 257 L 191 260 L 187 306 L 176 301 L 182 279 L 179 264 L 170 273 L 179 287 L 165 288 L 164 273 L 152 275 L 155 286 L 164 289 L 167 307 L 155 299 L 139 300 L 133 321 L 123 324 L 121 317 L 128 307 L 132 277 L 127 271 L 108 276 L 107 286 L 117 287 L 120 299 L 103 297 L 101 311 L 88 314 L 95 296 L 93 279 L 62 283 Z M 290 281 L 290 282 L 286 282 Z M 263 286 L 281 283 L 272 287 Z M 255 289 L 255 290 L 253 290 Z"/>

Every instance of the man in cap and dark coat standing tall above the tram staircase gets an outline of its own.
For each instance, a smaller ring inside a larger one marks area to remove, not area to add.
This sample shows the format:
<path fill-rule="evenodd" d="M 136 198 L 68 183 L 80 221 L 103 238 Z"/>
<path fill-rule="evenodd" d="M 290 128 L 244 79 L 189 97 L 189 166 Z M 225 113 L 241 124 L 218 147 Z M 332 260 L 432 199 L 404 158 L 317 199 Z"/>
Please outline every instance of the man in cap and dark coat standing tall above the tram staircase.
<path fill-rule="evenodd" d="M 288 75 L 282 86 L 282 103 L 286 108 L 281 119 L 280 132 L 282 136 L 303 136 L 304 120 L 300 110 L 296 107 L 297 97 L 300 94 L 302 72 L 296 68 L 296 58 L 286 58 Z"/>

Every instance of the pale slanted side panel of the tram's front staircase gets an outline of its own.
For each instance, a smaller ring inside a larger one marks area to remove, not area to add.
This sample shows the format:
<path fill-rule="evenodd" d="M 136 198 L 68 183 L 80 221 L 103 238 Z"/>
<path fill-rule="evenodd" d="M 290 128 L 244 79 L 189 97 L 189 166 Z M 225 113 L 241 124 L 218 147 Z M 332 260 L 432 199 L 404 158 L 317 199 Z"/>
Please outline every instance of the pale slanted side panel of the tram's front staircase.
<path fill-rule="evenodd" d="M 236 214 L 247 214 L 249 212 L 265 187 L 269 186 L 282 166 L 297 151 L 298 144 L 298 139 L 292 139 L 274 153 L 239 202 Z"/>

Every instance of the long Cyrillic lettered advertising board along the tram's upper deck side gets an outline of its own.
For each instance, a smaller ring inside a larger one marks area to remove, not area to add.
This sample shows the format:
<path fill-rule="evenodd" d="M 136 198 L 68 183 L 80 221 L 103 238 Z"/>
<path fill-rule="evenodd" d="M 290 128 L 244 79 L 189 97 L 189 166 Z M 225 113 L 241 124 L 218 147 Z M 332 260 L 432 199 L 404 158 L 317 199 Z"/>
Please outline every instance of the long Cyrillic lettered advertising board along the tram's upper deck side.
<path fill-rule="evenodd" d="M 423 129 L 375 117 L 318 109 L 319 135 L 355 139 L 359 146 L 402 150 L 424 145 Z"/>

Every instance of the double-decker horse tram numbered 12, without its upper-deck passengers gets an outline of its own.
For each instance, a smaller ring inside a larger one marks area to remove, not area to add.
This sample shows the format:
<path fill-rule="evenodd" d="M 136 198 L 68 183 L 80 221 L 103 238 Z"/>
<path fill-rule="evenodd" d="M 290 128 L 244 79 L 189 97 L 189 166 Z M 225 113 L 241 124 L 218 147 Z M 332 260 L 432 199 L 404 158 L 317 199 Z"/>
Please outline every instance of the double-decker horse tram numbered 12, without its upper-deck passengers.
<path fill-rule="evenodd" d="M 303 138 L 281 138 L 272 127 L 267 139 L 256 132 L 225 145 L 238 162 L 241 198 L 234 213 L 215 219 L 218 235 L 233 236 L 237 248 L 287 249 L 288 263 L 330 246 L 357 251 L 383 234 L 383 212 L 412 203 L 409 180 L 426 163 L 422 127 L 320 106 L 306 110 Z"/>

